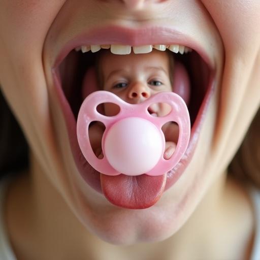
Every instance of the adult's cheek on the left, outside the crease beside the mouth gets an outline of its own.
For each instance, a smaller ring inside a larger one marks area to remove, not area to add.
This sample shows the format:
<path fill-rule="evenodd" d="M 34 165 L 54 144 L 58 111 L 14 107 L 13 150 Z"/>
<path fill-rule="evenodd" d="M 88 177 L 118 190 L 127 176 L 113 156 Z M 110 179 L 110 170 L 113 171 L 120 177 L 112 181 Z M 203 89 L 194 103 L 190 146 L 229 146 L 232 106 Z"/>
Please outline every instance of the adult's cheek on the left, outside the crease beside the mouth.
<path fill-rule="evenodd" d="M 62 3 L 51 0 L 0 1 L 1 87 L 38 155 L 47 151 L 43 146 L 50 140 L 47 132 L 51 129 L 43 45 Z M 48 165 L 47 161 L 45 165 Z"/>

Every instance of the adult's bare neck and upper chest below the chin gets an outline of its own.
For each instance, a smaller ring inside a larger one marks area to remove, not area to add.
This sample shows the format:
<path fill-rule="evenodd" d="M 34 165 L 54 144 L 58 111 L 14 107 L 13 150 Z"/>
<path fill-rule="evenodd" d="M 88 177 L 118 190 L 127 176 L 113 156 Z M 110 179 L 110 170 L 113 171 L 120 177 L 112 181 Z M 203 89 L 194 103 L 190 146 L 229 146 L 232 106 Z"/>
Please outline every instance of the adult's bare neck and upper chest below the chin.
<path fill-rule="evenodd" d="M 7 225 L 18 259 L 247 259 L 253 215 L 247 193 L 222 174 L 184 226 L 153 244 L 110 245 L 89 233 L 41 172 L 31 171 L 11 185 Z M 100 250 L 102 248 L 102 250 Z M 236 248 L 233 250 L 232 248 Z M 105 254 L 105 255 L 104 255 Z M 42 258 L 40 258 L 41 256 Z M 111 256 L 111 257 L 110 257 Z"/>

